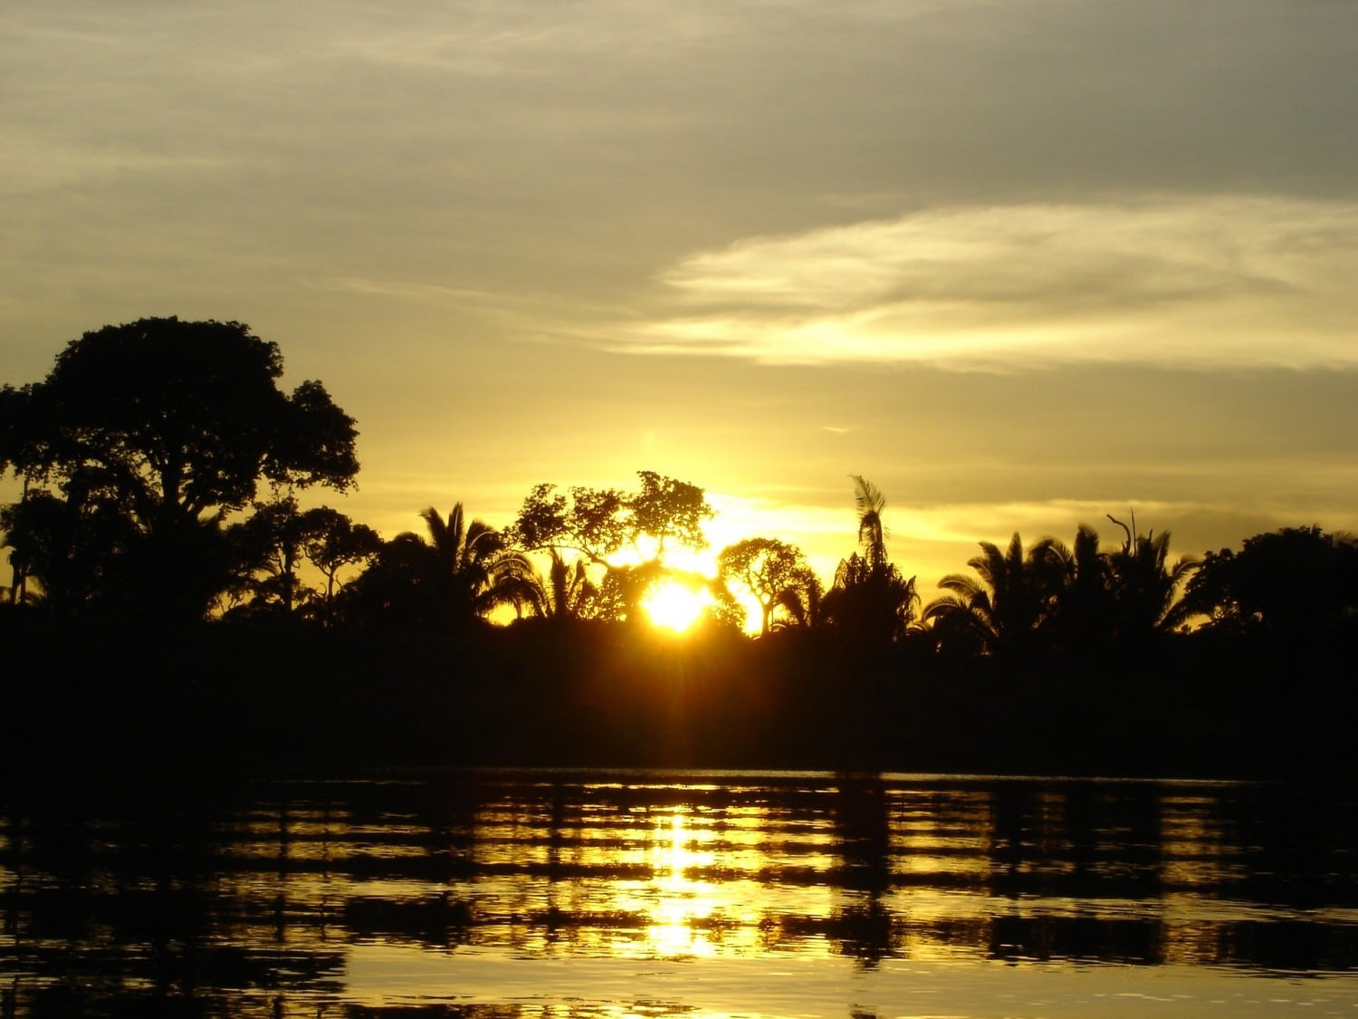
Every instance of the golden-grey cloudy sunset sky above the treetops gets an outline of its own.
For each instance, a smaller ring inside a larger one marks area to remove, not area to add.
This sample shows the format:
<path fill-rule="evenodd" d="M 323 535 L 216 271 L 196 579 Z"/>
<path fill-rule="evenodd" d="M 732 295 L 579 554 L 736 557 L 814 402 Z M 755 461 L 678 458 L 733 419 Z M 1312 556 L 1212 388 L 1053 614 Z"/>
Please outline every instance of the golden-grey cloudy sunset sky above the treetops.
<path fill-rule="evenodd" d="M 246 322 L 391 537 L 703 486 L 713 550 L 1358 530 L 1350 0 L 8 0 L 0 382 Z"/>

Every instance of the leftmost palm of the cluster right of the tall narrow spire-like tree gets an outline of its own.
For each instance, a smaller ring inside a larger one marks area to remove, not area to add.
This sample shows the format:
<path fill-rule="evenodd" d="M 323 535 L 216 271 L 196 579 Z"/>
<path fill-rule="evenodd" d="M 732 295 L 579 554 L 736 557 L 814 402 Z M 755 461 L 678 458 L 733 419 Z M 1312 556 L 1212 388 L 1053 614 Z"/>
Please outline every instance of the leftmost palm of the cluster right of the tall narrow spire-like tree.
<path fill-rule="evenodd" d="M 1024 552 L 1014 533 L 1004 552 L 980 542 L 967 565 L 976 577 L 949 573 L 938 582 L 947 594 L 925 609 L 940 641 L 964 641 L 987 654 L 1025 654 L 1052 615 L 1061 580 L 1061 556 L 1052 538 Z"/>

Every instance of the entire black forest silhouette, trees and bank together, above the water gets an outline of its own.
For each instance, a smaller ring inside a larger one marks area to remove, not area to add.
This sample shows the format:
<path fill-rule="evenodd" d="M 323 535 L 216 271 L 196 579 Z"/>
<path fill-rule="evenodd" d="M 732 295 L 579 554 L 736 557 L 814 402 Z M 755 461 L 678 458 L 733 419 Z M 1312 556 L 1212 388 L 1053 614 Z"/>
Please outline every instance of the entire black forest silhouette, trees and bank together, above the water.
<path fill-rule="evenodd" d="M 303 508 L 353 486 L 357 428 L 281 375 L 242 323 L 159 318 L 0 390 L 7 761 L 1351 774 L 1351 537 L 1176 558 L 1109 516 L 979 542 L 925 603 L 861 476 L 824 583 L 775 535 L 674 569 L 713 508 L 641 470 L 383 539 Z M 646 622 L 664 584 L 703 596 L 683 640 Z"/>

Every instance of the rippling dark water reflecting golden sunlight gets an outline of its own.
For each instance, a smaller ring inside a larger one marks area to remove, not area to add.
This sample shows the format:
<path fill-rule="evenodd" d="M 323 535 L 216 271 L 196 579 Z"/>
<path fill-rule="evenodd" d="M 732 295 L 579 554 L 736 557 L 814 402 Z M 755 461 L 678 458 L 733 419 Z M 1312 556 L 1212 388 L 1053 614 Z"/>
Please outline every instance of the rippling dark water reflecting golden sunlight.
<path fill-rule="evenodd" d="M 0 1016 L 1358 1016 L 1351 787 L 456 772 L 0 793 Z"/>

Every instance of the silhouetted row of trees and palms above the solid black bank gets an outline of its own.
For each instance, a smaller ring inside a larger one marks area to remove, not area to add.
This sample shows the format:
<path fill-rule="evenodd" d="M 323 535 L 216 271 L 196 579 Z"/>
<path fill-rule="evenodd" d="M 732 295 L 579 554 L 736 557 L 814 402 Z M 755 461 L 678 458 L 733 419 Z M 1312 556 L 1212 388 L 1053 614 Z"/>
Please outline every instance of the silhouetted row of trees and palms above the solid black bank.
<path fill-rule="evenodd" d="M 721 549 L 717 576 L 667 553 L 705 545 L 713 508 L 691 482 L 540 484 L 496 529 L 458 503 L 383 539 L 307 489 L 349 490 L 357 429 L 320 382 L 280 387 L 278 346 L 238 322 L 141 319 L 86 333 L 48 376 L 0 390 L 0 510 L 10 605 L 64 620 L 137 618 L 448 630 L 498 614 L 530 626 L 627 624 L 661 583 L 708 599 L 703 626 L 762 639 L 832 633 L 857 648 L 1017 666 L 1138 655 L 1175 634 L 1336 639 L 1358 620 L 1358 542 L 1319 526 L 1173 558 L 1167 531 L 1108 518 L 1001 548 L 922 602 L 887 553 L 885 499 L 851 477 L 856 548 L 824 584 L 794 545 Z"/>

